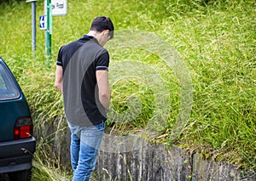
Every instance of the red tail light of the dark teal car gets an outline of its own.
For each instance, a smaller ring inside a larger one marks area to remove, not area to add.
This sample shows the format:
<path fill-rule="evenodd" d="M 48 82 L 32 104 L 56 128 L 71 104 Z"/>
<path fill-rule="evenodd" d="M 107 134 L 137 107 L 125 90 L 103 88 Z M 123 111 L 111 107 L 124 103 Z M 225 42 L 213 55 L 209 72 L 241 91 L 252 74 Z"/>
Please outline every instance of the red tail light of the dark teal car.
<path fill-rule="evenodd" d="M 19 117 L 15 123 L 15 139 L 31 138 L 33 134 L 32 117 Z"/>

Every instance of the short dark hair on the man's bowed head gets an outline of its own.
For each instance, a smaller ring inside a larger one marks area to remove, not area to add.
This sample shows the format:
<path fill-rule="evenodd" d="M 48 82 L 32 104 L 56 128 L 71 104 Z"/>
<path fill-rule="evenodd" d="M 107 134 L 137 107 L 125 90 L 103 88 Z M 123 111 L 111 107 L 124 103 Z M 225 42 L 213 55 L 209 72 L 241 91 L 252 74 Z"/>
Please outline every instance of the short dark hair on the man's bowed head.
<path fill-rule="evenodd" d="M 109 30 L 108 36 L 110 36 L 110 39 L 113 38 L 113 29 L 112 21 L 106 16 L 96 17 L 90 25 L 90 31 L 102 32 L 104 30 Z"/>

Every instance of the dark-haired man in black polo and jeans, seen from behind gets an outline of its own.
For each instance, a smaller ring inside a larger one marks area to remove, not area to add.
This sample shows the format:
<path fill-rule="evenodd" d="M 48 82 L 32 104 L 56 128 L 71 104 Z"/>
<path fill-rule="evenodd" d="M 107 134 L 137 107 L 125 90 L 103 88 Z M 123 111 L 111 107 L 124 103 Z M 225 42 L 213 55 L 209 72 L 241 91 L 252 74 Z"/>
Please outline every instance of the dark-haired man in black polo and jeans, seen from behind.
<path fill-rule="evenodd" d="M 63 94 L 72 133 L 73 181 L 89 180 L 96 167 L 110 102 L 109 54 L 103 46 L 113 38 L 113 29 L 108 17 L 97 17 L 87 35 L 59 50 L 55 88 Z"/>

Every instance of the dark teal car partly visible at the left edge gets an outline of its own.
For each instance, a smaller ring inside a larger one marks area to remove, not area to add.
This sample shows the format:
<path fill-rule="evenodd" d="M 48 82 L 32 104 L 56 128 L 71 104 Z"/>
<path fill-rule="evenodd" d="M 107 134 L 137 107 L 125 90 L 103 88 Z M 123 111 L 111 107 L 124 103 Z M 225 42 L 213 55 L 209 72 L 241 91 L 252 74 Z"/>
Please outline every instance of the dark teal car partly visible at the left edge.
<path fill-rule="evenodd" d="M 0 58 L 0 175 L 29 181 L 36 149 L 32 116 L 15 76 Z"/>

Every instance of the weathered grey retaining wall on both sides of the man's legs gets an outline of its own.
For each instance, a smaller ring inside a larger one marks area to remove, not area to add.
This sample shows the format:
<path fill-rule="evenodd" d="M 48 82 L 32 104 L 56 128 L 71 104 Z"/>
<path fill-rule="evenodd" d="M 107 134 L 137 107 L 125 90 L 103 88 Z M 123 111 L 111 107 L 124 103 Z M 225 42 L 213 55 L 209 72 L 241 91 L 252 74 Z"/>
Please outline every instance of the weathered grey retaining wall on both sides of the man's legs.
<path fill-rule="evenodd" d="M 41 125 L 38 138 L 52 140 L 49 145 L 52 151 L 49 157 L 60 161 L 61 165 L 70 167 L 70 131 L 67 122 L 47 122 Z M 166 144 L 149 144 L 140 139 L 123 141 L 122 151 L 108 149 L 110 139 L 103 141 L 97 159 L 97 181 L 124 180 L 124 181 L 255 181 L 255 172 L 243 173 L 236 166 L 227 162 L 202 160 L 200 154 L 190 155 L 177 146 L 167 148 Z M 130 144 L 127 144 L 130 142 Z M 133 143 L 133 144 L 131 144 Z M 107 148 L 107 149 L 106 149 Z M 115 151 L 113 151 L 115 150 Z M 127 151 L 124 151 L 127 150 Z M 129 151 L 130 150 L 130 151 Z M 132 150 L 132 151 L 131 151 Z M 243 173 L 243 174 L 242 174 Z M 112 178 L 112 179 L 110 179 Z"/>

